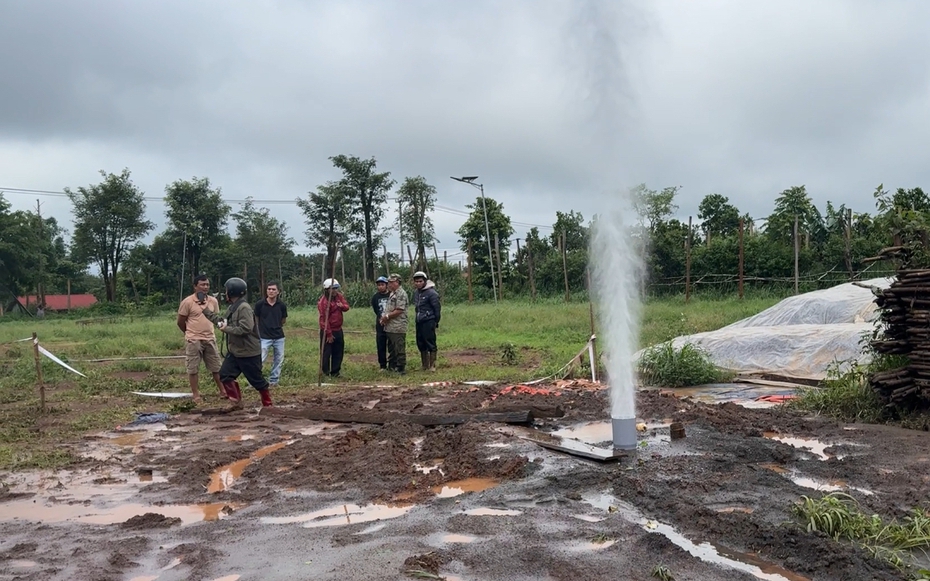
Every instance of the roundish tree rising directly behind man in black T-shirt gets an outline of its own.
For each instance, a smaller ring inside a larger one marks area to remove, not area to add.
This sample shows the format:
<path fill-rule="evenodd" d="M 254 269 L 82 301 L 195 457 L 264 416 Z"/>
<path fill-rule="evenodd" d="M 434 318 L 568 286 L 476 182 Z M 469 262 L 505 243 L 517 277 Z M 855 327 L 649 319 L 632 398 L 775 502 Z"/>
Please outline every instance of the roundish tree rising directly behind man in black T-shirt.
<path fill-rule="evenodd" d="M 265 268 L 274 265 L 273 272 L 277 272 L 278 261 L 291 254 L 294 241 L 287 235 L 287 224 L 272 217 L 268 208 L 256 208 L 251 197 L 232 217 L 236 220 L 236 254 L 246 265 L 257 268 L 252 272 L 258 273 L 258 287 L 263 290 Z"/>

